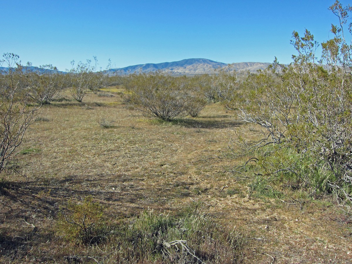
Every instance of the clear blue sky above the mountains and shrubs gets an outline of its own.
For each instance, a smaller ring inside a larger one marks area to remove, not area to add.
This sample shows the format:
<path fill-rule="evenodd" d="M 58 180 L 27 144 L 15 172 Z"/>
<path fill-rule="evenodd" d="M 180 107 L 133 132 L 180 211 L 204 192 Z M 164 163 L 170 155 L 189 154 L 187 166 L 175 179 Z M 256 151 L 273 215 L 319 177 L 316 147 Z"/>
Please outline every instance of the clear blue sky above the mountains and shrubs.
<path fill-rule="evenodd" d="M 351 1 L 341 0 L 343 5 Z M 291 62 L 294 30 L 319 42 L 331 36 L 334 0 L 2 1 L 0 52 L 23 64 L 98 57 L 105 68 L 207 58 L 214 61 Z"/>

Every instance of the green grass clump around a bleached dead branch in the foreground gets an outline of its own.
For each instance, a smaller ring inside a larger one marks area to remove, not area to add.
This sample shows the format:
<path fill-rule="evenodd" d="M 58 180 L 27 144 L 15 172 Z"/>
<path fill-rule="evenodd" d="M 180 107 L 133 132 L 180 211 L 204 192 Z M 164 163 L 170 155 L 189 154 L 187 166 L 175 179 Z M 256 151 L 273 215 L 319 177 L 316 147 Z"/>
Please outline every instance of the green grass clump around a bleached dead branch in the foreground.
<path fill-rule="evenodd" d="M 111 245 L 110 261 L 118 263 L 238 263 L 244 238 L 224 229 L 210 217 L 193 212 L 171 216 L 141 213 L 121 225 Z"/>

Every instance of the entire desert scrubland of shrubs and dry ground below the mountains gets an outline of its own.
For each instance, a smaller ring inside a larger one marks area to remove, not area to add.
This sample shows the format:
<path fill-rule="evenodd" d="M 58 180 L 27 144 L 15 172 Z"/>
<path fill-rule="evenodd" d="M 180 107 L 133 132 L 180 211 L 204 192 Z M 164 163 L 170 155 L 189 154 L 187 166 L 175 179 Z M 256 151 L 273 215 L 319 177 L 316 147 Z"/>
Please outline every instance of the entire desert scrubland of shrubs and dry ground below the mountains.
<path fill-rule="evenodd" d="M 0 80 L 1 263 L 350 263 L 350 7 L 257 74 Z M 96 61 L 96 58 L 94 58 Z"/>

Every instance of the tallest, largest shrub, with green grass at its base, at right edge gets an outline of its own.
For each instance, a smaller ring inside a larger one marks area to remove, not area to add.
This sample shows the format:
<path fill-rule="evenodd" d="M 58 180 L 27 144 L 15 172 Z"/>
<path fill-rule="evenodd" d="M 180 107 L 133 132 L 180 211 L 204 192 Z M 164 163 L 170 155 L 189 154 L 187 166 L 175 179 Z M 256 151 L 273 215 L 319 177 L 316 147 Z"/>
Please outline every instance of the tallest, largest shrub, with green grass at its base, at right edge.
<path fill-rule="evenodd" d="M 238 115 L 243 121 L 263 128 L 249 147 L 272 146 L 261 162 L 267 173 L 297 178 L 312 194 L 334 191 L 351 202 L 352 45 L 345 33 L 351 39 L 352 29 L 343 29 L 352 8 L 336 1 L 330 10 L 340 25 L 333 25 L 334 38 L 321 44 L 319 61 L 313 35 L 293 32 L 294 62 L 275 61 L 271 72 L 250 75 L 236 103 L 242 104 Z"/>

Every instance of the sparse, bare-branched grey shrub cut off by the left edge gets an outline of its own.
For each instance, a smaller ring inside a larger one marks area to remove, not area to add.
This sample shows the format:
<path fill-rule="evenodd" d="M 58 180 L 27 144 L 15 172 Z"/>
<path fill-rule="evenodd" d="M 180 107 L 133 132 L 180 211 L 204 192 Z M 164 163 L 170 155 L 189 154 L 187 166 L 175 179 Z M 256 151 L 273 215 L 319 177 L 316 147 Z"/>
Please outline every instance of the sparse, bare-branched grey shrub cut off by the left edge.
<path fill-rule="evenodd" d="M 30 106 L 25 93 L 27 79 L 19 56 L 4 54 L 0 60 L 0 172 L 15 169 L 14 154 L 40 105 Z"/>

